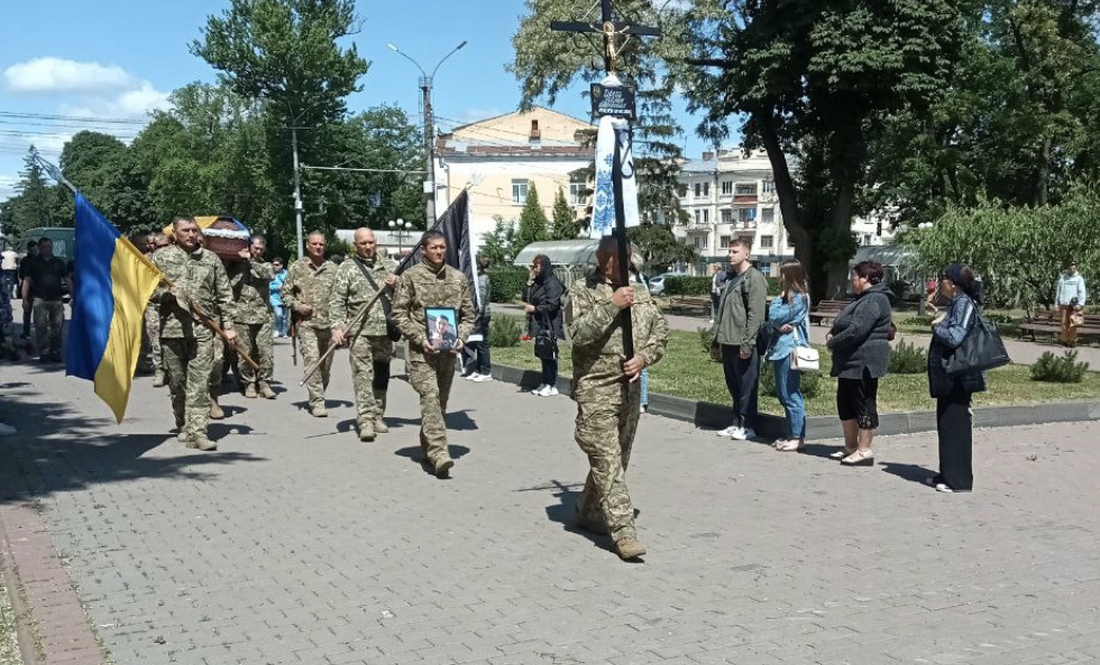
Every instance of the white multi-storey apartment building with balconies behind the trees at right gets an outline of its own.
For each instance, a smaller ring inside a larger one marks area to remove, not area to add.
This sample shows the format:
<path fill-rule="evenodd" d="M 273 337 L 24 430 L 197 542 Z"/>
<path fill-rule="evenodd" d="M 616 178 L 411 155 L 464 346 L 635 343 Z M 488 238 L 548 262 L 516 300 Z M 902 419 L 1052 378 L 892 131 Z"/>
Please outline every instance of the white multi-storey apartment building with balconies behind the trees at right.
<path fill-rule="evenodd" d="M 794 258 L 794 245 L 783 228 L 776 195 L 771 163 L 763 151 L 746 155 L 741 149 L 703 153 L 703 158 L 681 167 L 680 181 L 686 187 L 680 204 L 688 212 L 686 224 L 673 233 L 695 247 L 701 265 L 722 263 L 734 239 L 752 243 L 752 256 L 761 271 L 774 274 L 779 264 Z M 857 219 L 853 233 L 860 245 L 880 245 L 892 237 L 889 224 L 875 219 Z"/>

